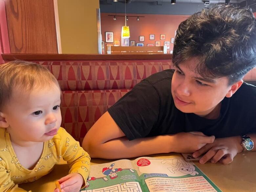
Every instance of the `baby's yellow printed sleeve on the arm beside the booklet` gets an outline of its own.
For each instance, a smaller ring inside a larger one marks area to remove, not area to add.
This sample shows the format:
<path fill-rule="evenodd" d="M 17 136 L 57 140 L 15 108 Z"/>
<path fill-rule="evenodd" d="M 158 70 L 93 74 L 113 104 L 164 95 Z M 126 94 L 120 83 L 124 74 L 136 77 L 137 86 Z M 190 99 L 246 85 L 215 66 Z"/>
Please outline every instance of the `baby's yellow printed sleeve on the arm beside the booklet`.
<path fill-rule="evenodd" d="M 69 173 L 79 173 L 84 179 L 85 187 L 90 172 L 90 156 L 80 147 L 76 141 L 64 128 L 61 133 L 61 155 L 63 160 L 67 161 L 70 171 Z"/>

